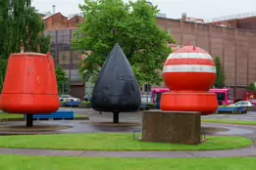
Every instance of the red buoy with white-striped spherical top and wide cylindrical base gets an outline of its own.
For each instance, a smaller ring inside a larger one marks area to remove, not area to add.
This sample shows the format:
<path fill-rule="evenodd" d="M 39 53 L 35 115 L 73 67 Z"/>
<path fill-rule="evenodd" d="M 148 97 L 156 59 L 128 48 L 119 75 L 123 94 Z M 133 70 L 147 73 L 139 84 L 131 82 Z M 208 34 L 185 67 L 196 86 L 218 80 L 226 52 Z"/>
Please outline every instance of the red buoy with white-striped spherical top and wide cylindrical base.
<path fill-rule="evenodd" d="M 218 108 L 216 94 L 208 93 L 216 80 L 216 66 L 204 50 L 185 46 L 172 53 L 163 69 L 170 93 L 162 95 L 161 109 L 212 114 Z"/>

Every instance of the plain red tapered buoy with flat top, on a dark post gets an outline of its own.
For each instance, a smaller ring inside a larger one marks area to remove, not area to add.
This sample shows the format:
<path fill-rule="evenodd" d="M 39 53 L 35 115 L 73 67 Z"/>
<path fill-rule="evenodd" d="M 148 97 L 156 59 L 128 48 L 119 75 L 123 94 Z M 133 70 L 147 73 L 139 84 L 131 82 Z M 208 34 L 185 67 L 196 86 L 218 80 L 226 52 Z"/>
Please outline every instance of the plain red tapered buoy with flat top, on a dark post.
<path fill-rule="evenodd" d="M 13 54 L 9 58 L 0 109 L 9 113 L 41 114 L 59 109 L 59 94 L 50 54 Z"/>

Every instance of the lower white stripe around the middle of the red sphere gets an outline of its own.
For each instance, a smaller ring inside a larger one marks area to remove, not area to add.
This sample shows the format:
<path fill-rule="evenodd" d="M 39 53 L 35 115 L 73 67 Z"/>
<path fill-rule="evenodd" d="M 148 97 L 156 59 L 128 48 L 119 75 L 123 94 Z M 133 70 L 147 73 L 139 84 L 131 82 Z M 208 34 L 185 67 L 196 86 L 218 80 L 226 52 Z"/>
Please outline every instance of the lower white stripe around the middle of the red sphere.
<path fill-rule="evenodd" d="M 173 64 L 165 65 L 163 73 L 165 72 L 209 72 L 216 73 L 216 66 L 205 64 Z"/>

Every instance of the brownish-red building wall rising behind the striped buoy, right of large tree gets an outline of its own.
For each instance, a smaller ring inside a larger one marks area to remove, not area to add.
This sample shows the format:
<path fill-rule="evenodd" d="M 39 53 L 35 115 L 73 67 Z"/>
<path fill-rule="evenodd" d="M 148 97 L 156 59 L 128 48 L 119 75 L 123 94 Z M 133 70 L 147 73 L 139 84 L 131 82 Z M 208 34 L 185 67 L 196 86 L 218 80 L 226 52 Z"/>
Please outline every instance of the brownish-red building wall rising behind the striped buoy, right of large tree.
<path fill-rule="evenodd" d="M 220 57 L 228 86 L 247 86 L 256 81 L 256 31 L 213 26 L 177 20 L 159 19 L 158 24 L 171 33 L 177 44 L 198 46 L 213 58 Z"/>

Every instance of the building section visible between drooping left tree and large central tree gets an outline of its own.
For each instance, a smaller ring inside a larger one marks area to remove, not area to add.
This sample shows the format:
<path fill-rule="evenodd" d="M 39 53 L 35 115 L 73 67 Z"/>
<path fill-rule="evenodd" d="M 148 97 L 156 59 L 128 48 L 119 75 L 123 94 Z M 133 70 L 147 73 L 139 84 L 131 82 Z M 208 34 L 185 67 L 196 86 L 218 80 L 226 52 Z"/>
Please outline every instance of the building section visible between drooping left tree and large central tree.
<path fill-rule="evenodd" d="M 51 37 L 51 54 L 55 65 L 60 65 L 71 80 L 71 95 L 82 99 L 85 95 L 85 84 L 80 78 L 78 64 L 80 54 L 72 49 L 72 40 L 79 23 L 83 22 L 81 16 L 74 16 L 71 19 L 57 13 L 50 17 L 43 17 L 45 21 L 45 35 Z M 87 92 L 88 93 L 88 92 Z"/>

